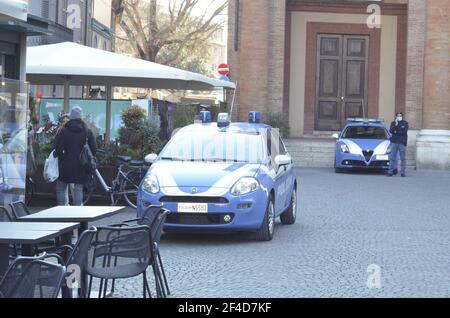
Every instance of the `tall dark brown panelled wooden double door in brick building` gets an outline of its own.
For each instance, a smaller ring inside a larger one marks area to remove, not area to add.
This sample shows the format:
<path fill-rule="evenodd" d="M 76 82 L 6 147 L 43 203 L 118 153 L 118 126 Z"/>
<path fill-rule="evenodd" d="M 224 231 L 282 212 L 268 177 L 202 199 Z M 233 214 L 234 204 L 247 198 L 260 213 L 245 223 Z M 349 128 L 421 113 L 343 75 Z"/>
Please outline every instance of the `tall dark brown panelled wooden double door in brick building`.
<path fill-rule="evenodd" d="M 368 60 L 368 36 L 317 36 L 316 130 L 339 131 L 347 118 L 367 116 Z"/>

